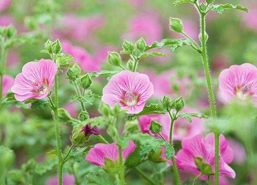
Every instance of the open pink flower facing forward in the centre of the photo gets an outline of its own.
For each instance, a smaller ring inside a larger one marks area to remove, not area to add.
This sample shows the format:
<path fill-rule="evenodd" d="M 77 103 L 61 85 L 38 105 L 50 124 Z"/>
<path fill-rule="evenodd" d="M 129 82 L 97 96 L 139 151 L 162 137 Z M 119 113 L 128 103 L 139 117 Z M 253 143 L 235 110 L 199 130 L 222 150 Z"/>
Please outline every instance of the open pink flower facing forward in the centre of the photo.
<path fill-rule="evenodd" d="M 153 94 L 154 87 L 147 75 L 123 70 L 103 88 L 102 101 L 111 106 L 120 103 L 128 114 L 138 114 Z"/>

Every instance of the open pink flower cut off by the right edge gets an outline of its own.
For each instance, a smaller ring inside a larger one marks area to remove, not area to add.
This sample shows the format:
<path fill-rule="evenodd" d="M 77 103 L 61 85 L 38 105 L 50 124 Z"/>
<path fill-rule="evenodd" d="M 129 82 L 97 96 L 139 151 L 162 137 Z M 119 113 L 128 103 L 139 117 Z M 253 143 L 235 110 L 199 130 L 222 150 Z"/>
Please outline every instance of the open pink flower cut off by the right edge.
<path fill-rule="evenodd" d="M 226 102 L 233 99 L 257 103 L 257 68 L 249 63 L 232 65 L 218 77 L 219 90 Z"/>

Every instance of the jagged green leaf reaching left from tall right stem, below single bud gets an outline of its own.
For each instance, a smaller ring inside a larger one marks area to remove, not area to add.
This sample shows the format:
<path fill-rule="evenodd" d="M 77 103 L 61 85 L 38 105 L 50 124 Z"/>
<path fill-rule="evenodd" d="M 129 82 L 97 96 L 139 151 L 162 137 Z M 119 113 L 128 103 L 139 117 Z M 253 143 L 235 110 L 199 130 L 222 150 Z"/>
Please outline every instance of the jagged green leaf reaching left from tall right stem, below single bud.
<path fill-rule="evenodd" d="M 191 44 L 192 42 L 189 39 L 163 39 L 161 42 L 153 42 L 151 46 L 146 46 L 144 51 L 153 48 L 161 49 L 163 46 L 170 45 L 171 51 L 173 52 L 178 47 L 190 46 Z"/>

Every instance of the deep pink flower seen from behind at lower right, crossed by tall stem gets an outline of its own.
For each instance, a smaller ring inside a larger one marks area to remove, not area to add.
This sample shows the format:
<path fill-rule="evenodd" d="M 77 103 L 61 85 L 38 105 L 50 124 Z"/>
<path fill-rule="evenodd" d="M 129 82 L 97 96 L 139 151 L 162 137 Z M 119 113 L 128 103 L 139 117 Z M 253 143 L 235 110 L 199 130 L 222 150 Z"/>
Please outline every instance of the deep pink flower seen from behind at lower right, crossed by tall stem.
<path fill-rule="evenodd" d="M 201 165 L 201 163 L 205 163 L 210 165 L 212 170 L 211 173 L 214 174 L 214 134 L 208 134 L 206 138 L 198 134 L 192 138 L 182 140 L 181 144 L 182 149 L 178 151 L 177 158 L 180 160 L 180 165 L 182 168 L 191 170 L 191 172 L 193 172 L 195 175 L 199 175 L 199 165 Z M 221 135 L 219 138 L 219 149 L 219 174 L 228 176 L 230 178 L 235 178 L 234 170 L 228 165 L 228 163 L 233 160 L 233 151 L 228 146 L 228 141 L 223 135 Z M 199 161 L 198 165 L 195 162 L 196 159 Z M 201 176 L 201 179 L 206 179 L 207 176 L 205 175 Z"/>

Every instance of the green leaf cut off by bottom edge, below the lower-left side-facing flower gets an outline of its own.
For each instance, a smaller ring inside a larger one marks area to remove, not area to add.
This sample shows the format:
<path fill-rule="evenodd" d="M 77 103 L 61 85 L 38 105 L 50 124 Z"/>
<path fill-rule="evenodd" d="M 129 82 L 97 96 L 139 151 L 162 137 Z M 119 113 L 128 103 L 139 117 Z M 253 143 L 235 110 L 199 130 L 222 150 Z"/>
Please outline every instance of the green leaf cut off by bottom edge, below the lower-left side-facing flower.
<path fill-rule="evenodd" d="M 106 174 L 99 174 L 99 173 L 94 173 L 90 172 L 85 176 L 85 183 L 95 183 L 95 184 L 105 184 L 105 185 L 113 185 L 114 183 L 109 181 L 109 178 Z"/>

